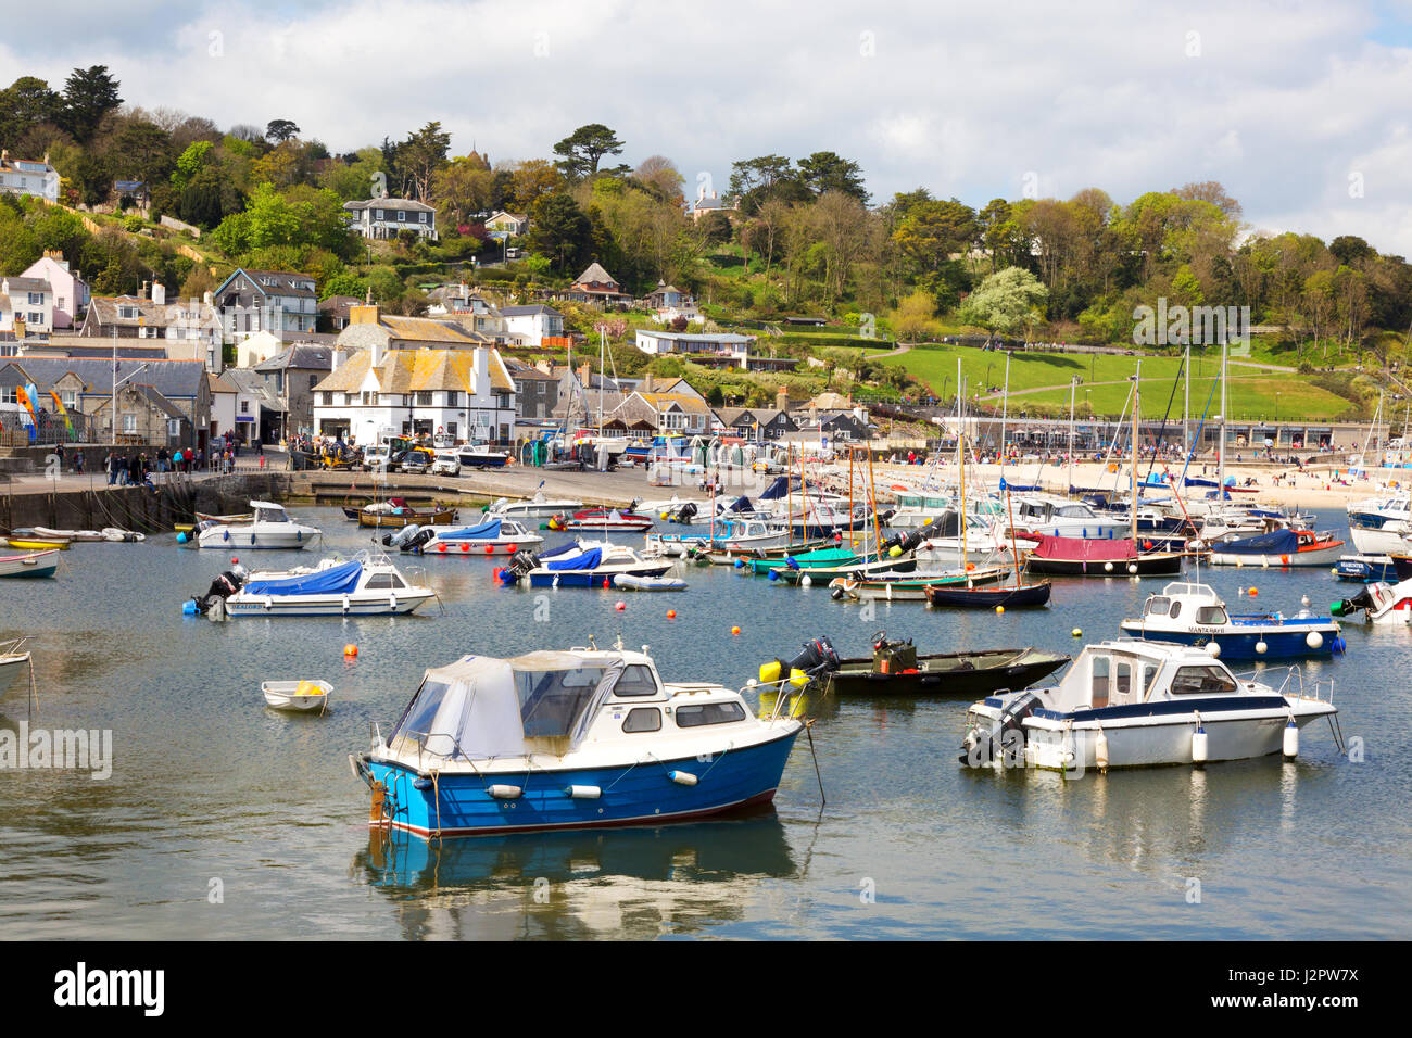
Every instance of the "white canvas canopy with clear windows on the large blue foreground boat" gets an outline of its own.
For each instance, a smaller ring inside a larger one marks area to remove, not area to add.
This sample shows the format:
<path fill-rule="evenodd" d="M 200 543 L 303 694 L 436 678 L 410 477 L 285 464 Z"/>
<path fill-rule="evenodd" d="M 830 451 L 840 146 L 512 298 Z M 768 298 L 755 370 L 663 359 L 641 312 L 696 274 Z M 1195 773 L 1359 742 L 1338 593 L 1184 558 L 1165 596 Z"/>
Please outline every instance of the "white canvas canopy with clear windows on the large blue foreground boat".
<path fill-rule="evenodd" d="M 582 741 L 623 669 L 621 658 L 579 652 L 467 655 L 426 671 L 388 746 L 445 760 L 563 756 Z"/>

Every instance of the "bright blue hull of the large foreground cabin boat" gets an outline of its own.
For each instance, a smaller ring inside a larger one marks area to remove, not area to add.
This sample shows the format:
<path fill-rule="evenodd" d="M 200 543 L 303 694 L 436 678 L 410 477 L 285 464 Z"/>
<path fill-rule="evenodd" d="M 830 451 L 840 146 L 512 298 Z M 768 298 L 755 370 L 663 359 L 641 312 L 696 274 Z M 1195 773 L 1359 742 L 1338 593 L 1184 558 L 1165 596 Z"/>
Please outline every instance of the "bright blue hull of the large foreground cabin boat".
<path fill-rule="evenodd" d="M 706 763 L 696 757 L 599 768 L 568 768 L 481 775 L 442 771 L 435 782 L 418 789 L 424 778 L 402 764 L 370 760 L 373 781 L 387 789 L 383 822 L 415 836 L 484 836 L 545 829 L 589 829 L 623 825 L 659 825 L 738 811 L 765 804 L 775 795 L 789 750 L 802 726 L 764 743 L 717 754 Z M 672 770 L 698 778 L 683 785 L 668 778 Z M 522 794 L 514 799 L 491 797 L 493 782 L 514 784 Z M 573 798 L 570 787 L 596 787 L 597 798 Z M 439 811 L 438 811 L 439 809 Z"/>

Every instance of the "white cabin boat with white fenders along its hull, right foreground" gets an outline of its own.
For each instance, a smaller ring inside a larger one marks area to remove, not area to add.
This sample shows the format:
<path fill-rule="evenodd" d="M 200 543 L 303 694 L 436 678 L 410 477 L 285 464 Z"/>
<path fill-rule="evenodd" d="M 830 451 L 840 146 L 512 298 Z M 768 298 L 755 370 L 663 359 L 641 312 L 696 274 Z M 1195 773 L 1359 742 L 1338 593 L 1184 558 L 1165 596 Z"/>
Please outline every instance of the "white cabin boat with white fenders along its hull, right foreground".
<path fill-rule="evenodd" d="M 1293 757 L 1299 729 L 1337 710 L 1298 667 L 1279 688 L 1241 681 L 1200 648 L 1123 638 L 1086 645 L 1053 688 L 988 696 L 966 712 L 970 767 L 1086 771 Z"/>

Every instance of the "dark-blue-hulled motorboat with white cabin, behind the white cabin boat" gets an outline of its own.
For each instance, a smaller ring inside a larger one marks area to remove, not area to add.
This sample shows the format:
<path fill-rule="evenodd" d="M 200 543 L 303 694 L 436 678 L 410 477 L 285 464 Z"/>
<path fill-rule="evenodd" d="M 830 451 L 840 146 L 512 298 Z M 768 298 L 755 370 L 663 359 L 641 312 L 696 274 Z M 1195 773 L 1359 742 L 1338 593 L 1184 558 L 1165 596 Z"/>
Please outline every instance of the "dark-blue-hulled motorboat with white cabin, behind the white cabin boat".
<path fill-rule="evenodd" d="M 1346 648 L 1333 617 L 1303 609 L 1281 613 L 1231 614 L 1204 583 L 1173 582 L 1148 596 L 1142 616 L 1124 620 L 1124 634 L 1206 648 L 1221 660 L 1327 658 Z"/>

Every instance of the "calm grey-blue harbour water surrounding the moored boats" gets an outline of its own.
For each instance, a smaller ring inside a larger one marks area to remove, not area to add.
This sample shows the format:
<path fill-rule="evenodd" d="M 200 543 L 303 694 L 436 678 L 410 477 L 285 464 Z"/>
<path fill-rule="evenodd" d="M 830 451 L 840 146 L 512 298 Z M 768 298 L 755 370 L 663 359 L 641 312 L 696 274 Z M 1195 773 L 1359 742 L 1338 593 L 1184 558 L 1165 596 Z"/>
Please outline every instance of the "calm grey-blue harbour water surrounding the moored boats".
<path fill-rule="evenodd" d="M 335 510 L 297 511 L 330 549 L 366 544 Z M 922 651 L 1076 651 L 1070 628 L 1115 637 L 1161 582 L 1059 582 L 1051 609 L 1004 617 L 880 603 L 864 620 L 825 587 L 692 568 L 685 595 L 621 596 L 621 614 L 614 592 L 544 592 L 548 619 L 535 621 L 539 590 L 491 583 L 503 561 L 426 559 L 441 614 L 212 624 L 181 603 L 223 568 L 220 552 L 168 535 L 75 545 L 65 562 L 55 580 L 0 582 L 0 640 L 37 634 L 32 723 L 112 729 L 114 768 L 107 781 L 0 771 L 0 938 L 1412 936 L 1405 628 L 1350 624 L 1347 658 L 1306 664 L 1306 679 L 1337 678 L 1364 763 L 1310 726 L 1296 764 L 1070 782 L 974 772 L 956 764 L 964 703 L 816 700 L 822 811 L 801 740 L 774 809 L 748 819 L 428 847 L 370 837 L 369 794 L 347 765 L 425 667 L 589 636 L 606 647 L 618 633 L 651 645 L 668 679 L 736 686 L 815 634 L 846 655 L 867 654 L 880 628 Z M 1303 593 L 1322 609 L 1354 589 L 1327 571 L 1202 576 L 1233 606 L 1254 582 L 1261 606 L 1286 613 Z M 328 716 L 265 709 L 261 679 L 304 676 L 333 684 Z M 25 716 L 17 684 L 0 727 Z M 1192 878 L 1200 904 L 1187 902 Z"/>

